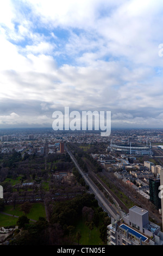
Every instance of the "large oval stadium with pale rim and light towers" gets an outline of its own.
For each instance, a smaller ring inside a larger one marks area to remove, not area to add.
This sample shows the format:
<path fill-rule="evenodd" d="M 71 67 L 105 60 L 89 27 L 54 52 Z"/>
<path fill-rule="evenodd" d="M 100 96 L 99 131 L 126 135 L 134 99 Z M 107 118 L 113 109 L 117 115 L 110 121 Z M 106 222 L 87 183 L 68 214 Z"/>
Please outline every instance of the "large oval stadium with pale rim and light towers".
<path fill-rule="evenodd" d="M 110 146 L 108 147 L 108 150 L 110 151 L 117 151 L 122 154 L 129 154 L 129 155 L 152 155 L 151 151 L 151 143 L 150 147 L 145 145 L 139 145 L 139 144 L 112 144 L 110 143 Z"/>

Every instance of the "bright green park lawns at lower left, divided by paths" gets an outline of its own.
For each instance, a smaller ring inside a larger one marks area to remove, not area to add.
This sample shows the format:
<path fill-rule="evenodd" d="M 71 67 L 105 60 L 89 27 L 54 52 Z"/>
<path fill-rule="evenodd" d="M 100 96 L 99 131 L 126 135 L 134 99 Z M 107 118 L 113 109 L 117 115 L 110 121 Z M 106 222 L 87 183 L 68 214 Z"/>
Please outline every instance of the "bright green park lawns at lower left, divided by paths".
<path fill-rule="evenodd" d="M 14 210 L 13 205 L 5 205 L 3 212 L 5 212 L 5 214 L 10 214 L 11 216 L 0 214 L 0 227 L 16 225 L 18 218 L 14 216 L 24 215 L 24 212 L 21 211 L 20 206 L 20 204 L 16 205 Z M 29 214 L 27 214 L 27 217 L 35 221 L 39 220 L 39 217 L 46 217 L 45 206 L 42 203 L 32 204 L 32 208 L 30 209 Z"/>

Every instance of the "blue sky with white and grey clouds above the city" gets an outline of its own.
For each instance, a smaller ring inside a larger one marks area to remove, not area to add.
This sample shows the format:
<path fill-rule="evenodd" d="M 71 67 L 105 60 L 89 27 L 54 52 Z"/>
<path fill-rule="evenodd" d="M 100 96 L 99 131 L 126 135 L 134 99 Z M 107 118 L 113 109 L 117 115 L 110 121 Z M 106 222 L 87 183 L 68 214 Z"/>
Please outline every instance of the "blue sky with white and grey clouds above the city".
<path fill-rule="evenodd" d="M 162 0 L 0 1 L 0 129 L 111 111 L 163 128 Z"/>

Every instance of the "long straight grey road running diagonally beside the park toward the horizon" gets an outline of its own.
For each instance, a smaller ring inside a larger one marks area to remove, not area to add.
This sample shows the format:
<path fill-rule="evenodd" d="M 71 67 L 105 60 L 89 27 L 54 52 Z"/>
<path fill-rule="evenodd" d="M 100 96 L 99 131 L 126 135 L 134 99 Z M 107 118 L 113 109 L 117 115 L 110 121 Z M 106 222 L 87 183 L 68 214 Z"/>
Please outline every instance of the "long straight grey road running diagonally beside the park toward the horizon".
<path fill-rule="evenodd" d="M 79 173 L 83 176 L 85 182 L 87 185 L 89 185 L 91 191 L 93 192 L 93 194 L 95 194 L 96 199 L 98 200 L 99 206 L 101 206 L 110 217 L 113 218 L 117 218 L 117 214 L 120 214 L 120 212 L 116 212 L 114 208 L 112 208 L 112 206 L 109 205 L 109 203 L 107 202 L 106 198 L 102 196 L 102 193 L 98 190 L 97 186 L 92 182 L 92 180 L 86 176 L 82 169 L 79 167 L 79 164 L 77 163 L 76 159 L 74 158 L 74 156 L 71 154 L 71 152 L 67 149 L 66 145 L 65 145 L 65 150 L 67 151 L 67 153 L 70 155 L 72 161 L 74 162 L 75 166 L 77 167 L 77 169 L 79 170 Z"/>

